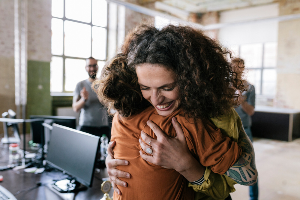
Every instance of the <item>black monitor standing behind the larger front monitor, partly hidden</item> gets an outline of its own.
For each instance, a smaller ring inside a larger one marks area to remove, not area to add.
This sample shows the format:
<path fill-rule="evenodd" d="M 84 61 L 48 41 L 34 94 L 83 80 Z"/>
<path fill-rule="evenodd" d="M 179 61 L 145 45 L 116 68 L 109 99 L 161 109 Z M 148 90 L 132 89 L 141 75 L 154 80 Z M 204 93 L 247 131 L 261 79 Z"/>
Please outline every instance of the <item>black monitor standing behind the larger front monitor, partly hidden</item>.
<path fill-rule="evenodd" d="M 67 126 L 72 129 L 76 129 L 76 117 L 65 116 L 50 116 L 50 115 L 30 115 L 30 119 L 51 119 L 53 123 L 61 126 Z M 30 123 L 30 134 L 33 142 L 41 144 L 41 134 L 44 134 L 44 127 L 42 121 Z"/>

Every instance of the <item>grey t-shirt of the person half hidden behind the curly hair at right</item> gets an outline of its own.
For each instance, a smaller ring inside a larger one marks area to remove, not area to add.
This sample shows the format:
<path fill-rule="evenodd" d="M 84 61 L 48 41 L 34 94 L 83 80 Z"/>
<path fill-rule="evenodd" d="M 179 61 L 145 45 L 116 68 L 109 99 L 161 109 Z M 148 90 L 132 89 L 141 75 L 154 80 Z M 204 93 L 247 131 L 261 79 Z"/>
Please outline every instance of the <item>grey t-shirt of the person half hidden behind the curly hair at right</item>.
<path fill-rule="evenodd" d="M 243 92 L 242 95 L 246 98 L 248 104 L 253 105 L 255 107 L 255 87 L 248 82 L 246 82 L 246 84 L 249 85 L 248 90 Z M 240 116 L 244 127 L 252 126 L 251 116 L 245 113 L 241 106 L 235 108 L 235 111 Z"/>

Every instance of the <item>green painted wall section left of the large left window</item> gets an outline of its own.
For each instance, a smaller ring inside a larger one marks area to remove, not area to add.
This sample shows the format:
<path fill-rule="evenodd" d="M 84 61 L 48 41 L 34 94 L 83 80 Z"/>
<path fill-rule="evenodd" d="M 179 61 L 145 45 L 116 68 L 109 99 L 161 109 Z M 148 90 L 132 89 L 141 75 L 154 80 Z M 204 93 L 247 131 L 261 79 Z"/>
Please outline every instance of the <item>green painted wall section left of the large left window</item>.
<path fill-rule="evenodd" d="M 50 95 L 50 62 L 29 60 L 27 111 L 29 115 L 52 115 L 52 98 Z"/>

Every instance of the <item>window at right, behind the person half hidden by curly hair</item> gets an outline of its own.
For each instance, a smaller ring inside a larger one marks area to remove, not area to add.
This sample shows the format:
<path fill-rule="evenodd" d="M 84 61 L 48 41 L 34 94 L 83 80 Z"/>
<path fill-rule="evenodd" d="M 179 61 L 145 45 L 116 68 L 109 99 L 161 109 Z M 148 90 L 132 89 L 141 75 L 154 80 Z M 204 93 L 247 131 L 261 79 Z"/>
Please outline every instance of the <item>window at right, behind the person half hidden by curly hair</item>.
<path fill-rule="evenodd" d="M 277 42 L 243 44 L 232 48 L 244 59 L 249 83 L 255 86 L 256 95 L 274 98 L 276 94 Z"/>

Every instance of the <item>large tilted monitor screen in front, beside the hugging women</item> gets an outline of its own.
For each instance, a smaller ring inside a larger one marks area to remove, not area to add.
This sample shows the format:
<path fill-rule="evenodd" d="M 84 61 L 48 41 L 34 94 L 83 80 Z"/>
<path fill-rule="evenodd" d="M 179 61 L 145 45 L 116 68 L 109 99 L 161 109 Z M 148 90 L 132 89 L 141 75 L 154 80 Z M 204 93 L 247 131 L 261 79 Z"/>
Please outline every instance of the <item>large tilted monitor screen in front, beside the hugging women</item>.
<path fill-rule="evenodd" d="M 47 163 L 91 187 L 100 137 L 57 124 L 51 132 Z"/>

